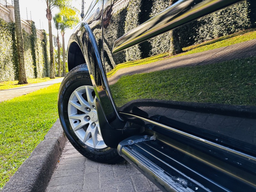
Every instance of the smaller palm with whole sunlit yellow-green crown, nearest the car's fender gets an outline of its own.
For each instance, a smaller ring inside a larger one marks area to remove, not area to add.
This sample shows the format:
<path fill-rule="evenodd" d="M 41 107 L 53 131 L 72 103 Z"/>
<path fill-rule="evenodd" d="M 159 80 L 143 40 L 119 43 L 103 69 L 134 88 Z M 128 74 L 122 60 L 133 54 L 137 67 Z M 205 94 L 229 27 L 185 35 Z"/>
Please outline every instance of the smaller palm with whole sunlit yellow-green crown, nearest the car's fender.
<path fill-rule="evenodd" d="M 65 52 L 65 30 L 68 28 L 72 28 L 76 25 L 76 23 L 79 22 L 79 19 L 77 17 L 76 9 L 69 9 L 62 13 L 62 17 L 60 21 L 60 32 L 62 36 L 62 60 L 63 60 L 63 76 L 66 75 L 66 52 Z"/>

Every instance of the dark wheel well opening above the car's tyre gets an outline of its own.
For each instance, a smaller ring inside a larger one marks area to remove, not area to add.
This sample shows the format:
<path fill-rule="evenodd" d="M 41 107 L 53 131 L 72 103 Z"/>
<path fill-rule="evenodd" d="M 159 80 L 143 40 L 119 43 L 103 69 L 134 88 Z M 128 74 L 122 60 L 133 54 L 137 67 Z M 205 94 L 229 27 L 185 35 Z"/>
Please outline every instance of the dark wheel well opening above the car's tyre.
<path fill-rule="evenodd" d="M 68 71 L 84 63 L 84 54 L 79 45 L 76 42 L 71 43 L 68 49 Z"/>

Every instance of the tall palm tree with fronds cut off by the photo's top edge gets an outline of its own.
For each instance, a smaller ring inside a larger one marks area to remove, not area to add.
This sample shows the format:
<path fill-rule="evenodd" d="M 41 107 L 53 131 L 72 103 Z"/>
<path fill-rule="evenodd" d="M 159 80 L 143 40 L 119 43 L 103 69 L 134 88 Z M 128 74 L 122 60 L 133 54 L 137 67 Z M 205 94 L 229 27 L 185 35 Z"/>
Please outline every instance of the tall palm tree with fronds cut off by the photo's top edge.
<path fill-rule="evenodd" d="M 48 19 L 49 27 L 49 42 L 50 42 L 50 78 L 55 78 L 54 74 L 54 59 L 53 59 L 53 44 L 52 44 L 52 9 L 54 7 L 60 10 L 65 10 L 71 7 L 71 0 L 45 0 L 46 8 L 46 18 Z"/>

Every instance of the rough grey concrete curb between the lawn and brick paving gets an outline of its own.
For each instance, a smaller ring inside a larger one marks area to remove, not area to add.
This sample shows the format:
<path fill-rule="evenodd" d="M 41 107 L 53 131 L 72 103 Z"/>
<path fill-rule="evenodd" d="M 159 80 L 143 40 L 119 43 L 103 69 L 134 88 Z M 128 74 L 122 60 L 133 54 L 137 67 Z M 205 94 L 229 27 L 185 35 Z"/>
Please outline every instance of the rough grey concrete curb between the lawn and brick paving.
<path fill-rule="evenodd" d="M 45 191 L 65 143 L 66 136 L 58 119 L 2 192 Z"/>

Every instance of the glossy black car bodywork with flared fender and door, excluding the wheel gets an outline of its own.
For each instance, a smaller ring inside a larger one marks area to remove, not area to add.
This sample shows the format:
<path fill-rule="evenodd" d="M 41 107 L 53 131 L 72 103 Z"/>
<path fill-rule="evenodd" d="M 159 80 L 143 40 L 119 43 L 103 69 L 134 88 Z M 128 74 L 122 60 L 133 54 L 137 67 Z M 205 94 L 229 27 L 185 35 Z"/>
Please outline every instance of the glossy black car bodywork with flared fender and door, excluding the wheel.
<path fill-rule="evenodd" d="M 156 143 L 161 141 L 185 154 L 184 159 L 179 157 L 184 172 L 197 172 L 216 186 L 220 183 L 220 188 L 225 175 L 242 183 L 240 187 L 256 188 L 256 40 L 251 38 L 238 44 L 234 40 L 229 46 L 218 44 L 250 33 L 243 30 L 253 25 L 248 10 L 255 3 L 241 1 L 199 18 L 234 2 L 237 1 L 92 3 L 69 40 L 68 66 L 70 70 L 83 62 L 88 65 L 97 96 L 100 129 L 108 146 L 116 148 L 125 138 L 141 132 L 153 134 Z M 168 10 L 170 4 L 168 12 L 177 11 L 168 20 L 174 24 L 159 29 L 157 22 L 166 15 L 157 14 Z M 212 11 L 200 9 L 212 5 Z M 189 13 L 191 17 L 185 17 Z M 183 14 L 187 24 L 180 20 L 176 20 L 177 25 L 172 22 Z M 153 20 L 153 24 L 147 22 L 154 17 L 158 20 Z M 223 26 L 221 20 L 230 21 L 230 26 L 236 28 Z M 209 26 L 205 27 L 208 21 L 220 28 L 209 30 Z M 230 28 L 225 30 L 226 27 Z M 171 28 L 175 29 L 168 31 Z M 232 36 L 227 37 L 228 34 Z M 183 52 L 172 56 L 169 52 L 179 52 L 172 49 L 179 47 L 177 42 Z M 82 54 L 77 53 L 78 48 Z M 127 150 L 127 159 L 133 159 Z M 196 171 L 190 161 L 200 161 L 220 175 L 208 174 L 210 169 Z M 232 185 L 223 190 L 233 190 Z"/>

